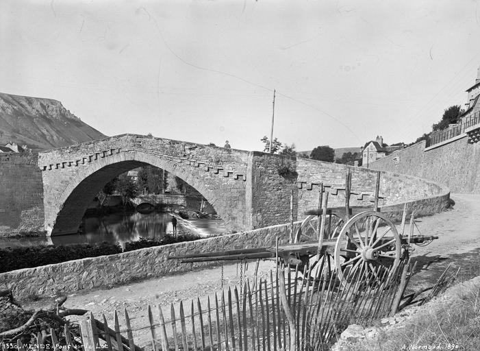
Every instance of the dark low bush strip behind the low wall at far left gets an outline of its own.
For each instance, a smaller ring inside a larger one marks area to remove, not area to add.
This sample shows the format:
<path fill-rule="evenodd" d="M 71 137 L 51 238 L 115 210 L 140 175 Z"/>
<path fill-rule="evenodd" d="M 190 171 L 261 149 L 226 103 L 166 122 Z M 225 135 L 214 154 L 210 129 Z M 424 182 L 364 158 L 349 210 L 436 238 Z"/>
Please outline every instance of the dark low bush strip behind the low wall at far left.
<path fill-rule="evenodd" d="M 0 273 L 15 269 L 31 268 L 86 257 L 119 254 L 122 247 L 118 244 L 103 242 L 99 245 L 73 244 L 48 245 L 37 247 L 7 247 L 0 249 Z"/>

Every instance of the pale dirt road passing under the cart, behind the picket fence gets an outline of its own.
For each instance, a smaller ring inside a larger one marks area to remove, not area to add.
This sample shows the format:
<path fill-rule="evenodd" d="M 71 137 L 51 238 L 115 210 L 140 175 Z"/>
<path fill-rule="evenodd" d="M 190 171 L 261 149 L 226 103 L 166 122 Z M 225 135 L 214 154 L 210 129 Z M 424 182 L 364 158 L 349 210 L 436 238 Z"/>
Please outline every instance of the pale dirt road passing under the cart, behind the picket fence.
<path fill-rule="evenodd" d="M 418 259 L 418 274 L 412 278 L 414 286 L 433 285 L 449 263 L 453 267 L 462 266 L 459 276 L 462 280 L 480 274 L 480 195 L 453 194 L 451 198 L 455 201 L 453 209 L 417 221 L 421 234 L 438 235 L 440 239 L 427 247 L 416 247 L 413 252 Z M 272 262 L 260 263 L 259 275 L 269 277 L 270 269 L 274 269 Z M 251 278 L 254 271 L 255 263 L 250 263 L 242 279 Z M 105 314 L 109 323 L 113 321 L 115 310 L 122 323 L 123 310 L 127 308 L 135 330 L 134 337 L 139 341 L 139 346 L 146 346 L 149 343 L 149 329 L 143 327 L 148 325 L 148 305 L 160 304 L 166 309 L 170 303 L 177 304 L 180 300 L 189 302 L 189 298 L 212 296 L 221 289 L 221 276 L 221 266 L 217 266 L 113 289 L 69 295 L 66 306 L 86 308 L 97 318 Z M 223 276 L 224 287 L 237 284 L 240 280 L 238 266 L 225 265 Z"/>

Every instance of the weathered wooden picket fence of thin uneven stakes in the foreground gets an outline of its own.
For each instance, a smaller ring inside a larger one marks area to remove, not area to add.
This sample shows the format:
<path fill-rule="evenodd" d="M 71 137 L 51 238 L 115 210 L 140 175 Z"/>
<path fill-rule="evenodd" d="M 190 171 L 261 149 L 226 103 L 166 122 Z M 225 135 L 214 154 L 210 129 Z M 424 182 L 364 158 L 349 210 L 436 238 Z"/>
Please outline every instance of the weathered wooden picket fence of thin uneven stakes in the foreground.
<path fill-rule="evenodd" d="M 325 271 L 277 269 L 267 278 L 247 280 L 212 297 L 180 302 L 175 308 L 148 306 L 153 351 L 166 350 L 323 350 L 346 326 L 369 322 L 396 311 L 409 264 L 366 276 L 359 269 L 342 284 Z M 275 278 L 274 278 L 275 276 Z M 169 310 L 169 311 L 168 311 Z M 84 350 L 99 347 L 140 351 L 125 310 L 125 325 L 114 313 L 114 329 L 103 315 L 90 313 L 79 322 Z M 138 330 L 139 328 L 136 328 Z"/>

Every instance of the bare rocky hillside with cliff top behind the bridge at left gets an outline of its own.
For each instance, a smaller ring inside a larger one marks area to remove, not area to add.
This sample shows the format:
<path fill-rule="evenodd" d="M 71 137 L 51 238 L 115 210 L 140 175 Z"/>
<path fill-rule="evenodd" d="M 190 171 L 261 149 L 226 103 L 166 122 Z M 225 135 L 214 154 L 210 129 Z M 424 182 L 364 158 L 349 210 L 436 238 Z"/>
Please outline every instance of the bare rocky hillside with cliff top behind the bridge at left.
<path fill-rule="evenodd" d="M 40 151 L 104 137 L 60 101 L 0 93 L 0 145 L 14 141 Z"/>

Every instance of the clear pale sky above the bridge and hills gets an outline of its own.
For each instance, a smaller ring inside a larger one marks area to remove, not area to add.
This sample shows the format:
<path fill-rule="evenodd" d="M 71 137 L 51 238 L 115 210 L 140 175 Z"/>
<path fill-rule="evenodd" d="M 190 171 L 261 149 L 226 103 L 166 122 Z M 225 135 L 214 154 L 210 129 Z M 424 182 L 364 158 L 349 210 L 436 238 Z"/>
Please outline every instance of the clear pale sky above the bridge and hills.
<path fill-rule="evenodd" d="M 0 1 L 0 92 L 103 134 L 411 143 L 466 103 L 480 1 Z"/>

